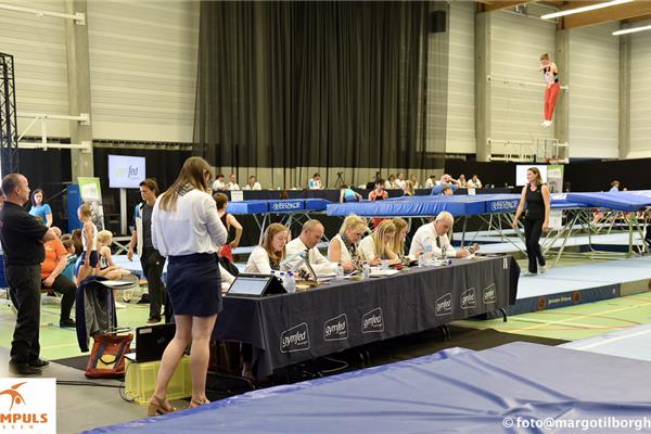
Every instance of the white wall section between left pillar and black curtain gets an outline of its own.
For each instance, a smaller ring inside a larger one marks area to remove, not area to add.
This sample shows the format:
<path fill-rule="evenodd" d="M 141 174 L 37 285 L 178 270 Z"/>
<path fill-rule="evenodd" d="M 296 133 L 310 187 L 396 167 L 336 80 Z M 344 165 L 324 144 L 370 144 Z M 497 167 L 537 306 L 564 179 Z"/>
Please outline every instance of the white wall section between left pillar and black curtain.
<path fill-rule="evenodd" d="M 199 8 L 88 2 L 95 139 L 192 141 Z"/>

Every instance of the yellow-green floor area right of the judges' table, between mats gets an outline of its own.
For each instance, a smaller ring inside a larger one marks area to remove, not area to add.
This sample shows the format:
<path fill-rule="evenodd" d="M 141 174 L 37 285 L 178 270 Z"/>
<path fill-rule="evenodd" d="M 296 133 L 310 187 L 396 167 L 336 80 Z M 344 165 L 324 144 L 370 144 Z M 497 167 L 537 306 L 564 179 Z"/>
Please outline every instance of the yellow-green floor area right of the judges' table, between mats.
<path fill-rule="evenodd" d="M 615 330 L 651 323 L 651 292 L 585 305 L 455 324 L 564 341 L 577 341 Z"/>

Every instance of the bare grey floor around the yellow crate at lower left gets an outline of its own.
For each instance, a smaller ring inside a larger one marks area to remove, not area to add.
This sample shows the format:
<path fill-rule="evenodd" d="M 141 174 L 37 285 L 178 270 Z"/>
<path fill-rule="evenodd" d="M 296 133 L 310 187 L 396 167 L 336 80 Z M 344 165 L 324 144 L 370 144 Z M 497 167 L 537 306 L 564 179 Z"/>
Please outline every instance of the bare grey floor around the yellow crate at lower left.
<path fill-rule="evenodd" d="M 0 348 L 0 378 L 12 376 L 8 371 L 9 350 Z M 58 381 L 84 381 L 84 372 L 51 362 L 43 369 L 42 378 Z M 95 384 L 120 384 L 112 380 L 92 380 Z M 129 422 L 145 417 L 146 407 L 127 403 L 119 396 L 119 388 L 56 385 L 56 433 L 78 433 L 98 426 Z M 177 408 L 188 407 L 187 401 L 173 403 Z"/>

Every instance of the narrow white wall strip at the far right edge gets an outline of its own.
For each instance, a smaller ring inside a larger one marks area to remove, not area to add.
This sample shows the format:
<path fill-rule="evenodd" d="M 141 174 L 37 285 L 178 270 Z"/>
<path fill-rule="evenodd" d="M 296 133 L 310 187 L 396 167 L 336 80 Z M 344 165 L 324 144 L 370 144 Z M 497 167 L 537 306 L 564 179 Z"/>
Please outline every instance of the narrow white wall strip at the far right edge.
<path fill-rule="evenodd" d="M 651 21 L 636 23 L 649 25 Z M 630 153 L 628 158 L 651 157 L 651 31 L 631 35 Z"/>

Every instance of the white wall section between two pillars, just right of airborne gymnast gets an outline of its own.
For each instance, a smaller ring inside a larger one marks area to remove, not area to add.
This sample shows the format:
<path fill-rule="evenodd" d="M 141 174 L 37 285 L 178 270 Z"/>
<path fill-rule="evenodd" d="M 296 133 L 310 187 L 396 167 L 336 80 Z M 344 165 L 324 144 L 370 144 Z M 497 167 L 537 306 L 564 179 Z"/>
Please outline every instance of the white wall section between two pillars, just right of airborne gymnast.
<path fill-rule="evenodd" d="M 610 23 L 570 31 L 572 158 L 618 157 L 620 40 L 612 35 L 617 28 Z"/>

